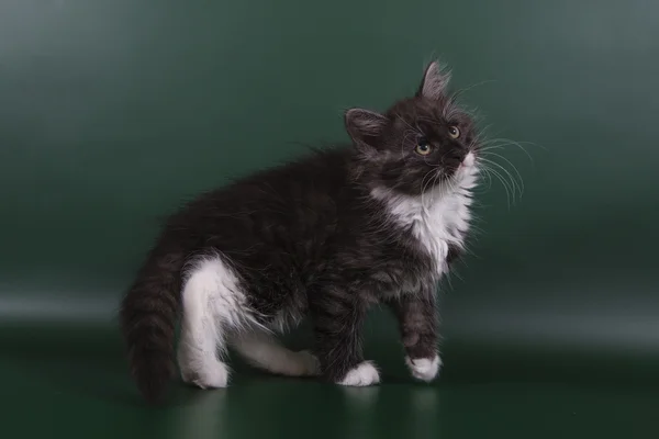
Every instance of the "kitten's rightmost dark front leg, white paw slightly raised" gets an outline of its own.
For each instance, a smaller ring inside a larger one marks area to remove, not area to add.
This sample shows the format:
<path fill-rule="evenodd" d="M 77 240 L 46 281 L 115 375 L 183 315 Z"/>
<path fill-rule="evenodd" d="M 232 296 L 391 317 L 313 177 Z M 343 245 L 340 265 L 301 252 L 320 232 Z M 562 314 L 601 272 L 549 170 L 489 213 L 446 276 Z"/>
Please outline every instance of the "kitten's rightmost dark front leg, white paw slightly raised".
<path fill-rule="evenodd" d="M 437 306 L 432 290 L 405 293 L 388 301 L 398 317 L 405 363 L 412 375 L 422 381 L 433 381 L 442 359 L 437 348 Z"/>

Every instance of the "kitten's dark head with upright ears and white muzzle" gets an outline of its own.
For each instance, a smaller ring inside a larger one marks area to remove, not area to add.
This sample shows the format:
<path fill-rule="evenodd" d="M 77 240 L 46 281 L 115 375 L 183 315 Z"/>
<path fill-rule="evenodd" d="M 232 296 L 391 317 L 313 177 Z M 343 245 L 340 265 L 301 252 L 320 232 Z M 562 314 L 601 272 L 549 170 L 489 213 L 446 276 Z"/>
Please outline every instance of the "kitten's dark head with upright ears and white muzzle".
<path fill-rule="evenodd" d="M 417 195 L 474 171 L 474 124 L 447 94 L 449 79 L 450 74 L 431 63 L 416 93 L 384 114 L 346 112 L 359 172 L 370 185 Z"/>

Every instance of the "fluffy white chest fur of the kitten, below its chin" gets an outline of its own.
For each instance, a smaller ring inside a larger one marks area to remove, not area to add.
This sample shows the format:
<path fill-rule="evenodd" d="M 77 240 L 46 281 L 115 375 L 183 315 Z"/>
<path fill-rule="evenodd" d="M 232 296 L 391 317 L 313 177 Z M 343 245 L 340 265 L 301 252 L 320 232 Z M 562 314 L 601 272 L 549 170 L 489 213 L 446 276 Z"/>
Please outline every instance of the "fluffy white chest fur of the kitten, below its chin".
<path fill-rule="evenodd" d="M 463 245 L 471 219 L 471 189 L 476 187 L 477 173 L 470 154 L 450 184 L 440 184 L 423 196 L 392 194 L 381 189 L 371 192 L 373 198 L 387 203 L 393 221 L 412 230 L 418 245 L 435 261 L 439 275 L 447 269 L 449 245 L 460 248 Z"/>

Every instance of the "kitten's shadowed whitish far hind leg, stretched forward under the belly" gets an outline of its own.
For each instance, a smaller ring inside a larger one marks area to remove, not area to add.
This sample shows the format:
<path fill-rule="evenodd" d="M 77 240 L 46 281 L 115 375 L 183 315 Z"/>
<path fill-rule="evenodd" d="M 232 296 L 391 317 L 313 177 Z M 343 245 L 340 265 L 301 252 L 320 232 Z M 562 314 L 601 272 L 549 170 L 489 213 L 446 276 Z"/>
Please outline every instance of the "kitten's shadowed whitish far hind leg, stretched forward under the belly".
<path fill-rule="evenodd" d="M 250 330 L 232 337 L 232 346 L 253 365 L 288 376 L 320 374 L 320 364 L 309 351 L 294 352 L 265 330 Z"/>

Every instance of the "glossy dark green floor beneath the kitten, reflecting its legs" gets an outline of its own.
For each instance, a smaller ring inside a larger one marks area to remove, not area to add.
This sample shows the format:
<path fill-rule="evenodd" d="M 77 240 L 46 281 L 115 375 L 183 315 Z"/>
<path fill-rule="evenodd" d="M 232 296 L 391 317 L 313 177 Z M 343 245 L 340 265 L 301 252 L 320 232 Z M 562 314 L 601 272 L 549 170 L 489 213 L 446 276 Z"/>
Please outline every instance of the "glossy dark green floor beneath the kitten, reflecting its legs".
<path fill-rule="evenodd" d="M 12 327 L 0 335 L 5 438 L 650 438 L 659 432 L 658 387 L 648 381 L 654 361 L 600 359 L 597 372 L 593 358 L 580 362 L 572 354 L 567 364 L 559 352 L 532 357 L 514 349 L 448 347 L 442 379 L 424 385 L 407 376 L 395 349 L 371 345 L 369 356 L 383 370 L 379 387 L 269 376 L 237 363 L 230 389 L 204 392 L 175 383 L 169 403 L 149 408 L 127 376 L 112 333 Z"/>

